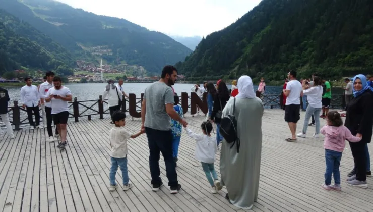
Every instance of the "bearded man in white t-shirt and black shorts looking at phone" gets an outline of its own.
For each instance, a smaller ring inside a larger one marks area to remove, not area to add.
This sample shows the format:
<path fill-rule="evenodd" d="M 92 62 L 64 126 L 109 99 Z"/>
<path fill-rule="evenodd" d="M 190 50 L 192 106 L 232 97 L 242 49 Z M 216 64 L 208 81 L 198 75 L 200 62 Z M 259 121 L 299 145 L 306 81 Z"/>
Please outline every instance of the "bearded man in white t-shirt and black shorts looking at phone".
<path fill-rule="evenodd" d="M 67 134 L 67 123 L 69 119 L 69 105 L 68 102 L 73 100 L 71 91 L 69 88 L 61 85 L 61 78 L 53 78 L 54 87 L 50 88 L 46 94 L 45 102 L 52 102 L 52 116 L 54 124 L 57 125 L 61 142 L 58 144 L 58 148 L 65 149 L 66 146 L 66 134 Z"/>

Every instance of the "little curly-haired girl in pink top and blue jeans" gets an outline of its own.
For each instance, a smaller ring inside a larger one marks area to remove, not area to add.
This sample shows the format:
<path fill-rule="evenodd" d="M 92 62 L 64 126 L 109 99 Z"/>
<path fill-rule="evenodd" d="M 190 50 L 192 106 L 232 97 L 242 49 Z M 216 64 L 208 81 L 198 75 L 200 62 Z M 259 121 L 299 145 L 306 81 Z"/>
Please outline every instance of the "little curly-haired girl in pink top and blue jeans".
<path fill-rule="evenodd" d="M 337 111 L 330 111 L 327 117 L 327 125 L 321 128 L 320 133 L 325 135 L 325 190 L 341 190 L 341 175 L 339 173 L 339 163 L 341 162 L 342 152 L 346 145 L 345 140 L 350 142 L 358 142 L 361 138 L 353 136 L 350 130 L 343 126 L 341 115 Z M 332 182 L 332 174 L 334 176 L 334 185 Z"/>

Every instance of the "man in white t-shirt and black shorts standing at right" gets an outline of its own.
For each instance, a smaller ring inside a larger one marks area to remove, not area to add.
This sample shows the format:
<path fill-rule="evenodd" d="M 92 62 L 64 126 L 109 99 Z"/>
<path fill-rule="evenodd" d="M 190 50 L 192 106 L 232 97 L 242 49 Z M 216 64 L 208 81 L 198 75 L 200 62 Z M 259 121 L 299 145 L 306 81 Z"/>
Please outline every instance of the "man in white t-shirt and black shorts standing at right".
<path fill-rule="evenodd" d="M 300 119 L 300 97 L 303 96 L 302 84 L 296 80 L 296 71 L 288 73 L 289 82 L 286 89 L 282 92 L 287 96 L 285 108 L 285 122 L 288 123 L 291 138 L 285 139 L 286 141 L 296 141 L 296 123 Z"/>

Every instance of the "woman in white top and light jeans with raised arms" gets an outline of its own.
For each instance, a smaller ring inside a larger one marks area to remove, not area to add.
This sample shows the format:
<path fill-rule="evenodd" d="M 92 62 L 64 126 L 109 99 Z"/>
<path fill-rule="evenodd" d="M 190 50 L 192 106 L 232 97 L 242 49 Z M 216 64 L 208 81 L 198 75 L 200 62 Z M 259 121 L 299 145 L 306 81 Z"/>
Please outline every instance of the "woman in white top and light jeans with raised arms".
<path fill-rule="evenodd" d="M 305 111 L 303 131 L 297 134 L 297 136 L 301 138 L 306 137 L 308 121 L 312 115 L 314 115 L 315 123 L 316 123 L 315 134 L 313 136 L 315 138 L 319 138 L 319 133 L 320 133 L 319 115 L 322 110 L 321 98 L 323 96 L 323 87 L 321 86 L 322 81 L 320 77 L 314 76 L 313 80 L 314 80 L 314 84 L 310 88 L 308 87 L 308 85 L 305 84 L 305 80 L 303 81 L 303 84 L 302 84 L 303 94 L 307 95 L 308 107 L 307 107 L 307 110 Z"/>

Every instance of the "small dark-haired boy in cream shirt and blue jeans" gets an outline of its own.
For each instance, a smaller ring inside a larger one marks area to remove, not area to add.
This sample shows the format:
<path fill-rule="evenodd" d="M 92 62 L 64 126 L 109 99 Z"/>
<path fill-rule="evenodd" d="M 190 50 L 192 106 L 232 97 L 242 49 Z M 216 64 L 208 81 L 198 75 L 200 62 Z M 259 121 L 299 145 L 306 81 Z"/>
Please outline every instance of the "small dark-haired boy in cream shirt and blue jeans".
<path fill-rule="evenodd" d="M 111 147 L 111 168 L 110 168 L 110 187 L 109 191 L 115 191 L 118 185 L 115 183 L 115 174 L 118 170 L 118 166 L 122 171 L 123 178 L 123 191 L 127 191 L 132 188 L 132 184 L 129 183 L 130 179 L 128 177 L 127 169 L 127 139 L 136 138 L 142 134 L 138 132 L 134 135 L 130 135 L 127 130 L 121 128 L 126 125 L 126 114 L 121 111 L 115 111 L 111 117 L 115 124 L 110 130 L 110 147 Z"/>

